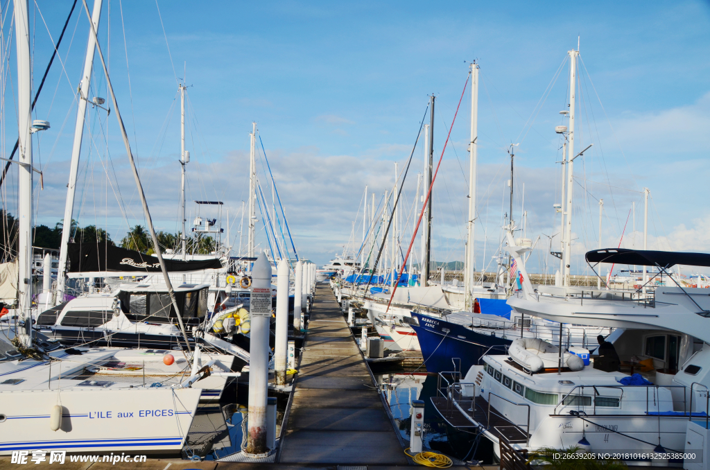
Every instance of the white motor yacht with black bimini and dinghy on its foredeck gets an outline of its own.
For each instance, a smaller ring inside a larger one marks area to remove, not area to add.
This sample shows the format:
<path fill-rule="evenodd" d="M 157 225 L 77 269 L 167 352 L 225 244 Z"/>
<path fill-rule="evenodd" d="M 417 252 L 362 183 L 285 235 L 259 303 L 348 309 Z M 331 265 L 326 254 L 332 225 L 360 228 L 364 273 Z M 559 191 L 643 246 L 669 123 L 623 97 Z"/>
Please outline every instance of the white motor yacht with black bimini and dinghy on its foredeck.
<path fill-rule="evenodd" d="M 510 244 L 519 260 L 524 248 Z M 704 253 L 621 248 L 590 251 L 586 260 L 654 266 L 659 273 L 675 264 L 710 266 Z M 707 456 L 701 455 L 710 437 L 706 290 L 679 285 L 646 293 L 643 286 L 635 291 L 534 289 L 524 267 L 521 273 L 523 290 L 508 300 L 516 312 L 616 328 L 606 340 L 616 348 L 617 365 L 609 368 L 606 356 L 592 354 L 579 368 L 564 360 L 577 351 L 564 351 L 561 342 L 545 351 L 491 351 L 460 381 L 442 373 L 442 393 L 433 401 L 444 418 L 479 428 L 498 455 L 506 449 L 581 447 L 628 463 L 658 463 L 660 454 L 670 465 L 696 468 L 689 465 L 700 461 L 706 463 L 697 468 L 707 468 Z M 533 371 L 523 355 L 547 364 Z"/>

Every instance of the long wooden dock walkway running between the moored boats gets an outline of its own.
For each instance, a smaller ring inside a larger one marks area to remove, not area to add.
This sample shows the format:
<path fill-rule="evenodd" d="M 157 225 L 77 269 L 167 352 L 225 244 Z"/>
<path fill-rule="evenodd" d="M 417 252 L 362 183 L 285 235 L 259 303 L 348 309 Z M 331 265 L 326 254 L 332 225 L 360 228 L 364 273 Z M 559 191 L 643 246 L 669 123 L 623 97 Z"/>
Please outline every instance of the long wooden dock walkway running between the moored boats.
<path fill-rule="evenodd" d="M 280 464 L 406 465 L 393 422 L 335 295 L 318 285 Z"/>

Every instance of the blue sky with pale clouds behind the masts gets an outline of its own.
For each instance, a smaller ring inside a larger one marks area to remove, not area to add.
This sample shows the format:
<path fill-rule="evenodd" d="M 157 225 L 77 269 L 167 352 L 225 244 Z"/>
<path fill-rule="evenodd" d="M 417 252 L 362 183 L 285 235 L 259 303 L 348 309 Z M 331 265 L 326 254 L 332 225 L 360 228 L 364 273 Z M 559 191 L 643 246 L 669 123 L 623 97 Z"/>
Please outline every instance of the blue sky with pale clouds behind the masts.
<path fill-rule="evenodd" d="M 56 40 L 71 4 L 35 5 L 34 70 L 40 77 L 52 52 L 42 16 Z M 88 33 L 80 5 L 60 47 L 62 63 L 55 62 L 35 110 L 38 119 L 52 122 L 35 146 L 35 158 L 45 167 L 45 190 L 35 214 L 40 223 L 60 219 L 65 197 L 73 92 Z M 580 133 L 595 147 L 575 169 L 583 178 L 575 189 L 576 252 L 598 244 L 594 198 L 605 200 L 604 244 L 618 244 L 630 203 L 638 207 L 642 202 L 642 187 L 650 187 L 653 197 L 651 244 L 710 250 L 704 202 L 710 144 L 706 1 L 564 7 L 553 2 L 412 1 L 158 5 L 165 35 L 155 3 L 116 0 L 110 2 L 110 40 L 108 1 L 99 34 L 104 54 L 110 48 L 111 78 L 159 229 L 178 227 L 175 77 L 182 78 L 185 70 L 192 153 L 188 198 L 219 198 L 231 214 L 239 212 L 246 199 L 248 133 L 256 121 L 297 246 L 302 256 L 324 263 L 346 243 L 364 186 L 381 193 L 393 185 L 393 162 L 402 168 L 408 157 L 427 94 L 437 95 L 435 148 L 441 151 L 466 80 L 465 61 L 476 59 L 481 65 L 478 262 L 484 263 L 484 244 L 486 258 L 491 245 L 498 244 L 510 143 L 520 143 L 515 207 L 522 202 L 524 182 L 528 236 L 554 234 L 559 222 L 552 204 L 559 202 L 560 179 L 554 126 L 562 124 L 557 111 L 566 104 L 569 74 L 562 62 L 579 36 L 586 99 Z M 12 55 L 11 70 L 14 60 Z M 94 95 L 107 97 L 98 72 Z M 6 87 L 6 98 L 11 93 Z M 433 245 L 441 261 L 463 257 L 469 102 L 466 92 L 434 189 Z M 4 116 L 7 135 L 14 135 L 11 106 Z M 84 146 L 87 166 L 75 214 L 80 212 L 82 224 L 105 226 L 120 239 L 127 226 L 143 218 L 114 116 L 108 121 L 95 112 L 92 116 L 97 145 L 90 154 Z M 108 144 L 97 131 L 102 122 L 108 122 Z M 6 138 L 5 152 L 12 143 Z M 114 168 L 110 176 L 103 169 L 109 162 L 107 149 Z M 408 204 L 421 160 L 419 147 L 405 183 Z M 6 196 L 11 208 L 13 187 L 8 186 Z M 125 217 L 114 192 L 123 198 Z M 642 214 L 638 209 L 637 230 Z M 231 226 L 233 238 L 238 225 L 239 220 Z M 259 236 L 265 246 L 263 230 Z M 630 240 L 628 231 L 625 240 Z M 544 260 L 540 251 L 531 263 L 540 268 Z"/>

